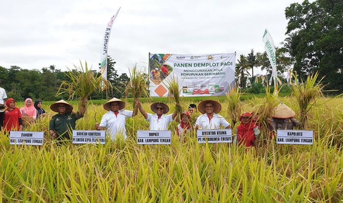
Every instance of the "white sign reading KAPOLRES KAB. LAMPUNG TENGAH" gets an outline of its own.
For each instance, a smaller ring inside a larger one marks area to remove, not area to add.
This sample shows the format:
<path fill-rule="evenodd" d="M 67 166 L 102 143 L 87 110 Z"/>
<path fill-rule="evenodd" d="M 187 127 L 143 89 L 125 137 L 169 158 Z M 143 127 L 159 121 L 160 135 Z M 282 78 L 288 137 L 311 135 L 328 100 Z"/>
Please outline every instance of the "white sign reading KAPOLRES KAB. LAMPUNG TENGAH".
<path fill-rule="evenodd" d="M 278 130 L 277 144 L 313 144 L 313 130 Z"/>

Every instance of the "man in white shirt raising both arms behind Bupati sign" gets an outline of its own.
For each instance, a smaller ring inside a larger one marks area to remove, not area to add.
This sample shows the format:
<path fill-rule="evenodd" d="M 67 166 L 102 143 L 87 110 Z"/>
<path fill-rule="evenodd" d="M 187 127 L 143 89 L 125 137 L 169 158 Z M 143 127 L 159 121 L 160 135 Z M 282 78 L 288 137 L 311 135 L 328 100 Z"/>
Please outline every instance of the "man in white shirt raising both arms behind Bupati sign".
<path fill-rule="evenodd" d="M 163 102 L 155 102 L 151 104 L 150 108 L 155 114 L 147 113 L 138 101 L 136 101 L 136 106 L 144 118 L 149 122 L 149 130 L 168 130 L 169 123 L 172 122 L 177 115 L 176 108 L 172 114 L 166 115 L 169 111 L 169 107 Z"/>

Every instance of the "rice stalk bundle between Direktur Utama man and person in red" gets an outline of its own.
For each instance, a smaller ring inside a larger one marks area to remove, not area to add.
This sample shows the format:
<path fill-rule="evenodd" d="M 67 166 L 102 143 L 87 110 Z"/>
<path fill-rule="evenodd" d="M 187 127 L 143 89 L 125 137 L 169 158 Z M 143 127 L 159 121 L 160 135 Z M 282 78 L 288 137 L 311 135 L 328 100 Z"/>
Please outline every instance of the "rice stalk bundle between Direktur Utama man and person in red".
<path fill-rule="evenodd" d="M 242 112 L 242 105 L 243 103 L 240 100 L 241 92 L 239 87 L 232 88 L 230 93 L 226 94 L 226 103 L 227 103 L 227 113 L 231 116 L 231 127 L 233 128 L 239 116 Z"/>

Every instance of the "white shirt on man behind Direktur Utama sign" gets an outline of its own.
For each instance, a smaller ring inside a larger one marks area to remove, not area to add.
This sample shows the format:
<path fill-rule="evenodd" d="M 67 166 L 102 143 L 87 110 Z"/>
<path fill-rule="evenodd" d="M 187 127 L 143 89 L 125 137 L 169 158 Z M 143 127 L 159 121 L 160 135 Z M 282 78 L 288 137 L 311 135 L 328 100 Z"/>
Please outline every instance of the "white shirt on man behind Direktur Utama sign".
<path fill-rule="evenodd" d="M 196 125 L 200 125 L 201 129 L 213 130 L 220 129 L 221 126 L 226 128 L 230 123 L 219 114 L 213 114 L 211 120 L 208 118 L 207 114 L 202 114 L 196 119 Z"/>

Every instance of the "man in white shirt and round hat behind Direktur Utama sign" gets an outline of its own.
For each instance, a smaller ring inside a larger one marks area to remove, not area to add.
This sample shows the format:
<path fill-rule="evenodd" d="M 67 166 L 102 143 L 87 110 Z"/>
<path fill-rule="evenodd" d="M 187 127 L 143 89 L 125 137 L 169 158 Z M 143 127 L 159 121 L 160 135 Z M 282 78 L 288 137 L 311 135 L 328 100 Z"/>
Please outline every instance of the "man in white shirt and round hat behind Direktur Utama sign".
<path fill-rule="evenodd" d="M 199 103 L 198 110 L 202 113 L 196 119 L 196 129 L 220 129 L 221 126 L 229 129 L 230 123 L 217 114 L 221 111 L 221 104 L 214 100 L 204 100 Z"/>

